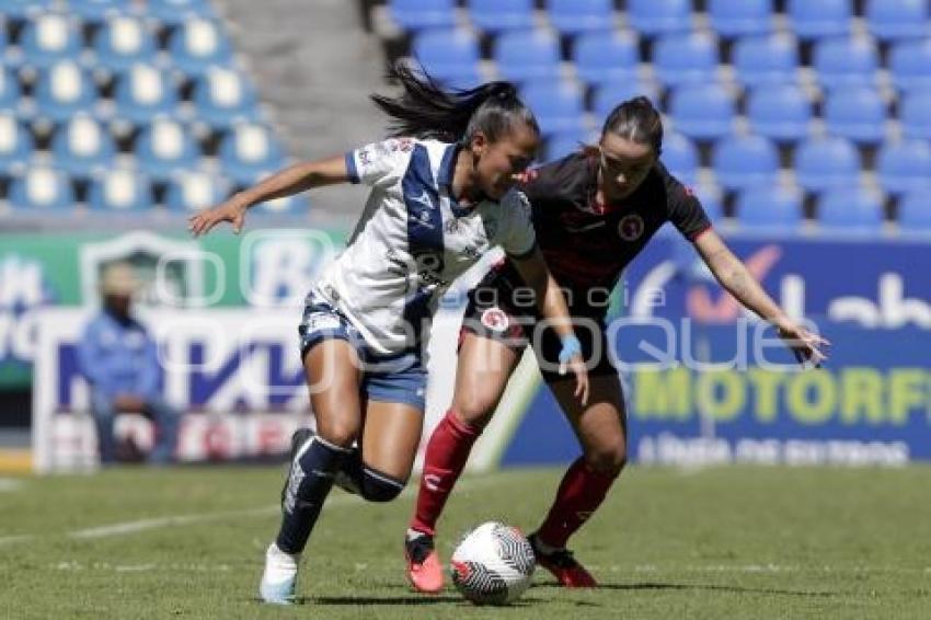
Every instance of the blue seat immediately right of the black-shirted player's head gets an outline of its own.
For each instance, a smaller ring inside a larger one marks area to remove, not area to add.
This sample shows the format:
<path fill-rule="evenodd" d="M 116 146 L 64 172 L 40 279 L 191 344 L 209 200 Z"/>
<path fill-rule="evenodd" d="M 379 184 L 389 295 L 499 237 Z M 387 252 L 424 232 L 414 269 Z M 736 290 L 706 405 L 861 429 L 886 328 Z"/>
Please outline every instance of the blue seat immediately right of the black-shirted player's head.
<path fill-rule="evenodd" d="M 734 100 L 717 83 L 686 84 L 673 91 L 669 111 L 675 130 L 693 140 L 716 140 L 732 133 Z"/>

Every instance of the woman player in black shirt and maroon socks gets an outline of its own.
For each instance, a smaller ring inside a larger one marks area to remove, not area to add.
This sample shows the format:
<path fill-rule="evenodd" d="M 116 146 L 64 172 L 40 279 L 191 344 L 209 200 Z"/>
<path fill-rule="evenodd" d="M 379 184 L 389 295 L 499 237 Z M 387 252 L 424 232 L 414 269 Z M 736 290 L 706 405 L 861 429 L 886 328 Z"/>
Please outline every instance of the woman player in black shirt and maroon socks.
<path fill-rule="evenodd" d="M 533 343 L 543 379 L 584 452 L 563 477 L 549 514 L 529 536 L 530 543 L 538 563 L 560 584 L 596 585 L 565 544 L 601 504 L 627 461 L 624 401 L 604 334 L 607 299 L 624 266 L 665 222 L 671 221 L 694 244 L 725 289 L 778 329 L 800 361 L 823 359 L 818 346 L 826 341 L 792 322 L 731 253 L 699 200 L 659 162 L 662 142 L 658 112 L 647 99 L 636 97 L 611 112 L 598 147 L 525 174 L 520 188 L 531 204 L 538 242 L 553 275 L 568 291 L 589 364 L 591 398 L 588 403 L 574 399 L 572 387 L 553 371 L 559 338 L 550 330 L 535 332 L 539 314 L 528 307 L 516 265 L 492 269 L 470 292 L 452 405 L 426 447 L 405 540 L 407 576 L 416 589 L 442 587 L 434 551 L 436 521 L 528 342 Z M 591 329 L 579 329 L 585 325 Z"/>

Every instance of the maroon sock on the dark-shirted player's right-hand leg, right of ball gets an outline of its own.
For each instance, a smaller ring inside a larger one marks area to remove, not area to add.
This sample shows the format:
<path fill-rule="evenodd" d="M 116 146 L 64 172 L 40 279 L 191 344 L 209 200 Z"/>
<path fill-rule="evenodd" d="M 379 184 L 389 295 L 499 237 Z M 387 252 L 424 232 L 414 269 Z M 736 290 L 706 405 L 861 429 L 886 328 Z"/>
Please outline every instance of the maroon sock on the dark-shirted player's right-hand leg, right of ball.
<path fill-rule="evenodd" d="M 568 537 L 601 505 L 614 478 L 594 471 L 579 457 L 565 472 L 553 506 L 537 530 L 540 540 L 550 547 L 565 547 Z"/>

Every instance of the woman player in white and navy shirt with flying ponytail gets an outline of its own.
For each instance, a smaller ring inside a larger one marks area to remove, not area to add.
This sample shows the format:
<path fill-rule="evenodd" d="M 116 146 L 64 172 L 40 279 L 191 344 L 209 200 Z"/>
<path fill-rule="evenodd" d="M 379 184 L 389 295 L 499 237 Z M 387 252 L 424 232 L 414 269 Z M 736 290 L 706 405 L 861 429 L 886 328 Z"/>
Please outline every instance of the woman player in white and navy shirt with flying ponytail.
<path fill-rule="evenodd" d="M 398 496 L 419 443 L 426 331 L 449 284 L 493 246 L 510 256 L 553 319 L 560 358 L 587 398 L 588 378 L 565 300 L 537 248 L 525 198 L 510 192 L 532 161 L 539 128 L 507 82 L 449 93 L 395 68 L 403 93 L 372 100 L 393 118 L 393 138 L 288 168 L 191 218 L 191 230 L 229 221 L 239 231 L 257 203 L 333 183 L 372 187 L 346 250 L 307 297 L 301 359 L 317 421 L 296 446 L 278 536 L 266 552 L 260 595 L 294 600 L 300 560 L 337 471 L 367 500 Z M 352 450 L 358 440 L 360 450 Z"/>

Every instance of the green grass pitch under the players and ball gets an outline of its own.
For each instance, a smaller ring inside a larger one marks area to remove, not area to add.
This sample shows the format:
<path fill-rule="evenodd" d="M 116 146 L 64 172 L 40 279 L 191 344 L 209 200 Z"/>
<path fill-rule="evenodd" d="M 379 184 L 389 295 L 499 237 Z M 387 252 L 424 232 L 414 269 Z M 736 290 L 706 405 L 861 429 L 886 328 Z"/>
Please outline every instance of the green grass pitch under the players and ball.
<path fill-rule="evenodd" d="M 126 469 L 0 480 L 0 618 L 931 618 L 931 469 L 733 468 L 624 473 L 574 539 L 601 581 L 549 574 L 509 608 L 415 595 L 389 505 L 334 491 L 301 605 L 254 598 L 280 468 Z M 537 525 L 556 470 L 464 481 L 440 524 Z"/>

